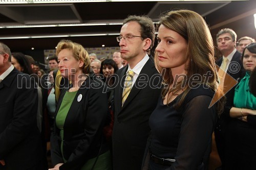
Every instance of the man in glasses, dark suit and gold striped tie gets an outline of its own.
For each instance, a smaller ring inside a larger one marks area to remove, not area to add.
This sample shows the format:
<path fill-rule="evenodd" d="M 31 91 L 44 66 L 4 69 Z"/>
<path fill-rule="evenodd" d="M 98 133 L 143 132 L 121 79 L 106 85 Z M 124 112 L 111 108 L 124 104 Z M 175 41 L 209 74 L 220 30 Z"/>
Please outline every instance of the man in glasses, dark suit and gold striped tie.
<path fill-rule="evenodd" d="M 122 59 L 129 64 L 117 71 L 114 91 L 115 120 L 112 134 L 113 169 L 141 169 L 150 128 L 148 118 L 160 95 L 161 79 L 147 55 L 154 44 L 154 23 L 147 16 L 123 21 L 117 41 Z M 130 79 L 129 79 L 130 77 Z M 130 83 L 129 83 L 130 82 Z M 127 85 L 129 84 L 129 85 Z M 155 87 L 153 87 L 154 85 Z"/>

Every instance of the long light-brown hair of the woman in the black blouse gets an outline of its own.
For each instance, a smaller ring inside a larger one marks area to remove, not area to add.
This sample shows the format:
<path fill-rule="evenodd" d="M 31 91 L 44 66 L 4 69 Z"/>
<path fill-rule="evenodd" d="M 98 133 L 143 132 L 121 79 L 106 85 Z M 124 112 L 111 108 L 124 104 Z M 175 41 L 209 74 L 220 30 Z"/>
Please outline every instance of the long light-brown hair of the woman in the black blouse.
<path fill-rule="evenodd" d="M 163 25 L 167 29 L 173 30 L 181 35 L 187 41 L 187 53 L 185 56 L 185 61 L 189 61 L 186 65 L 186 79 L 182 82 L 175 84 L 175 87 L 170 87 L 174 83 L 174 78 L 172 76 L 172 70 L 166 68 L 165 71 L 158 64 L 157 53 L 155 54 L 155 65 L 159 72 L 162 73 L 164 83 L 167 85 L 167 88 L 164 88 L 162 91 L 162 97 L 164 98 L 166 94 L 177 95 L 182 88 L 184 92 L 179 98 L 175 108 L 178 109 L 185 100 L 185 97 L 189 90 L 189 80 L 195 74 L 197 75 L 212 75 L 211 77 L 202 77 L 199 84 L 207 84 L 212 90 L 214 90 L 218 96 L 223 95 L 221 91 L 217 91 L 218 87 L 218 78 L 217 70 L 214 60 L 214 43 L 209 31 L 208 26 L 206 25 L 205 20 L 201 15 L 194 11 L 189 10 L 177 10 L 170 11 L 165 15 L 160 17 L 159 26 Z M 207 81 L 207 83 L 205 83 Z M 198 83 L 198 82 L 197 82 Z M 169 103 L 172 95 L 168 95 L 167 103 Z M 223 98 L 221 99 L 221 101 Z M 221 112 L 223 108 L 223 102 L 217 103 L 218 110 Z"/>

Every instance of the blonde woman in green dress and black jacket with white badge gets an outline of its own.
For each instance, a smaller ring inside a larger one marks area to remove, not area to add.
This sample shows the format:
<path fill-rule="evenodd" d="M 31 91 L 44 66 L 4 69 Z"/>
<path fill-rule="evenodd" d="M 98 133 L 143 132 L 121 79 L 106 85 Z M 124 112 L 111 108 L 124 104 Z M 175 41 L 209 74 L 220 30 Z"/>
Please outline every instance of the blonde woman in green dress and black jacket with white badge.
<path fill-rule="evenodd" d="M 61 90 L 51 137 L 50 170 L 108 170 L 111 156 L 103 136 L 108 98 L 89 78 L 90 59 L 82 45 L 61 40 L 56 49 L 61 76 L 71 82 Z M 98 85 L 98 86 L 97 86 Z"/>

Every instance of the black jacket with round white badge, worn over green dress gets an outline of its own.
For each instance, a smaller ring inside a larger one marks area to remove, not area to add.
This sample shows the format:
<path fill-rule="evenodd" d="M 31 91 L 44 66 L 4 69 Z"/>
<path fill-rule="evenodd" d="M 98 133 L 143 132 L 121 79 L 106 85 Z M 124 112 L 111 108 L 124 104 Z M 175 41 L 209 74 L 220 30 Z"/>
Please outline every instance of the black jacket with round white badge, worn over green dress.
<path fill-rule="evenodd" d="M 68 161 L 60 169 L 80 169 L 88 159 L 97 157 L 102 142 L 102 131 L 108 114 L 108 98 L 102 93 L 103 87 L 94 86 L 95 81 L 87 78 L 76 93 L 67 114 L 63 139 L 63 155 Z M 63 97 L 68 89 L 61 90 L 56 108 L 58 113 Z M 82 99 L 78 102 L 78 95 Z M 55 116 L 56 117 L 56 116 Z M 60 152 L 60 130 L 54 119 L 54 132 L 51 137 L 51 157 L 53 165 L 63 163 Z M 108 150 L 103 140 L 100 153 Z"/>

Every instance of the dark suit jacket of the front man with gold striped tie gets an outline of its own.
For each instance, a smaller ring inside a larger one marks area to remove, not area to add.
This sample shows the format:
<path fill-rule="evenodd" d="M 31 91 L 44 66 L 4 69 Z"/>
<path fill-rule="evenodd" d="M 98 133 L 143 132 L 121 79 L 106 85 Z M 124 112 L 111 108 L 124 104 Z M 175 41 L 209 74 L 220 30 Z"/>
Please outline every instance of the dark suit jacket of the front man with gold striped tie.
<path fill-rule="evenodd" d="M 150 132 L 148 118 L 157 105 L 161 91 L 162 79 L 153 61 L 149 59 L 122 107 L 123 84 L 127 68 L 128 66 L 124 66 L 117 71 L 117 86 L 114 91 L 115 119 L 112 134 L 114 170 L 141 168 Z"/>

